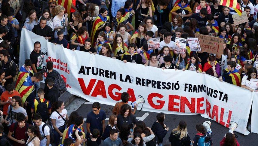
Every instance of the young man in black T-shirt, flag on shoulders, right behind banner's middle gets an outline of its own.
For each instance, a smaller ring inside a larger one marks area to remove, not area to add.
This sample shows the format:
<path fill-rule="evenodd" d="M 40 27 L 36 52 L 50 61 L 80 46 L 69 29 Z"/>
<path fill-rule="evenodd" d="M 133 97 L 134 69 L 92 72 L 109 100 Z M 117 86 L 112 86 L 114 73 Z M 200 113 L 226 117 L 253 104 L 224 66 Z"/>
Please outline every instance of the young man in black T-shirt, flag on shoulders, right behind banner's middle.
<path fill-rule="evenodd" d="M 142 56 L 138 54 L 135 51 L 136 45 L 134 43 L 131 43 L 129 45 L 129 51 L 125 52 L 122 56 L 122 61 L 124 63 L 131 62 L 131 63 L 137 63 L 137 64 L 143 64 L 142 63 Z"/>

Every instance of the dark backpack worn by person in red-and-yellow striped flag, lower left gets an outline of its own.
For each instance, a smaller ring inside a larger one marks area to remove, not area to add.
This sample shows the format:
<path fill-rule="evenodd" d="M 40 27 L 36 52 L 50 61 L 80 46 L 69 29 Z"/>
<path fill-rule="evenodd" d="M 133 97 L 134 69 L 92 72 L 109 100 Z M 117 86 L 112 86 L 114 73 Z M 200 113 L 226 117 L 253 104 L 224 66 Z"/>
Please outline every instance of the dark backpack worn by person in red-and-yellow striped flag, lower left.
<path fill-rule="evenodd" d="M 41 102 L 39 98 L 36 99 L 38 101 L 37 105 L 37 111 L 36 113 L 39 113 L 42 117 L 42 121 L 46 122 L 48 118 L 48 105 L 46 104 L 48 100 L 45 99 L 44 102 Z"/>

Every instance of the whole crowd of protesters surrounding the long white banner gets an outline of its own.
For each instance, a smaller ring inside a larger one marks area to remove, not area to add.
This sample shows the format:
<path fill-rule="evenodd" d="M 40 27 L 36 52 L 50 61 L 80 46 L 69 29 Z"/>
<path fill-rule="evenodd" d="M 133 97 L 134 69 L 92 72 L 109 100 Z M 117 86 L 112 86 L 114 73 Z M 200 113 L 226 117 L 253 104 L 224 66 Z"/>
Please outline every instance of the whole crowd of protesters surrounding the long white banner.
<path fill-rule="evenodd" d="M 222 1 L 222 0 L 221 0 Z M 258 91 L 258 1 L 237 0 L 240 9 L 222 6 L 220 0 L 1 0 L 0 1 L 0 144 L 1 145 L 162 145 L 169 127 L 165 114 L 157 114 L 151 128 L 137 121 L 121 95 L 105 125 L 106 115 L 95 102 L 83 118 L 70 117 L 58 98 L 64 81 L 53 62 L 43 69 L 41 43 L 24 65 L 18 68 L 21 29 L 43 36 L 64 49 L 89 52 L 162 69 L 191 70 L 209 74 L 221 82 Z M 69 3 L 69 4 L 68 4 Z M 234 25 L 232 15 L 246 11 L 249 22 Z M 175 38 L 195 37 L 195 33 L 222 38 L 223 54 L 193 52 L 175 54 Z M 160 38 L 160 48 L 148 50 L 150 38 Z M 53 48 L 54 49 L 54 48 Z M 22 62 L 23 64 L 23 62 Z M 42 75 L 47 75 L 40 88 Z M 96 117 L 96 118 L 95 118 Z M 251 117 L 247 130 L 251 130 Z M 172 130 L 171 145 L 197 145 L 206 136 L 196 125 L 193 139 L 187 124 L 180 121 Z M 85 132 L 85 133 L 84 133 Z M 20 134 L 25 133 L 25 134 Z M 66 133 L 66 134 L 65 134 Z M 69 133 L 69 134 L 67 134 Z M 1 140 L 3 139 L 3 140 Z M 9 140 L 8 140 L 9 139 Z M 210 140 L 210 145 L 212 141 Z M 227 133 L 220 145 L 239 145 Z"/>

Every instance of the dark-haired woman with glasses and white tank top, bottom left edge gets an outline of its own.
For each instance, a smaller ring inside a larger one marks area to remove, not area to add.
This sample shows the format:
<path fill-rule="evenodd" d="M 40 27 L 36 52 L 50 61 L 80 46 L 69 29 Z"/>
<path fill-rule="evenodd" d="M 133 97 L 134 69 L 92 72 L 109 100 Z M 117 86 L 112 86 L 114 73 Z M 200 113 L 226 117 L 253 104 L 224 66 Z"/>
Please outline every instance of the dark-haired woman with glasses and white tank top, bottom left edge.
<path fill-rule="evenodd" d="M 38 126 L 29 126 L 27 130 L 29 139 L 26 142 L 26 146 L 40 146 L 41 134 Z"/>

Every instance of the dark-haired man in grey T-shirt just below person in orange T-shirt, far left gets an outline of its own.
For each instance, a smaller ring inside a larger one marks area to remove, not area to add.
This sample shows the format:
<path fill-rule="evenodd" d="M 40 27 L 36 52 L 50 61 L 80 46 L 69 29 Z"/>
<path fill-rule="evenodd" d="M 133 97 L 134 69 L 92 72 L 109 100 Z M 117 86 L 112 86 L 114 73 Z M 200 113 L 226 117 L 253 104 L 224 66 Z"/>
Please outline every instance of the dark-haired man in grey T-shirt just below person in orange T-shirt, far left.
<path fill-rule="evenodd" d="M 26 110 L 21 106 L 21 97 L 20 96 L 13 96 L 11 100 L 11 105 L 8 106 L 7 115 L 5 116 L 5 124 L 11 125 L 17 121 L 15 121 L 15 115 L 17 113 L 22 113 L 28 120 L 28 114 Z M 9 119 L 7 119 L 9 118 Z"/>

